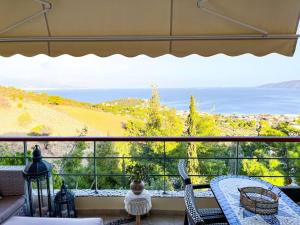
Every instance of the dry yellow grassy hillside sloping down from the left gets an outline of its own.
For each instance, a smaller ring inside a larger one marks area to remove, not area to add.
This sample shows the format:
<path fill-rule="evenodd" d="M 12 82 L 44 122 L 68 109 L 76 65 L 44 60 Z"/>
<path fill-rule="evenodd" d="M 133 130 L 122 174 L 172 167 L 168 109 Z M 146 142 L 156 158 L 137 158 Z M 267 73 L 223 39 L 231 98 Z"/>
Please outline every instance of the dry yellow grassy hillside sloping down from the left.
<path fill-rule="evenodd" d="M 123 135 L 128 116 L 58 96 L 0 87 L 0 135 Z"/>

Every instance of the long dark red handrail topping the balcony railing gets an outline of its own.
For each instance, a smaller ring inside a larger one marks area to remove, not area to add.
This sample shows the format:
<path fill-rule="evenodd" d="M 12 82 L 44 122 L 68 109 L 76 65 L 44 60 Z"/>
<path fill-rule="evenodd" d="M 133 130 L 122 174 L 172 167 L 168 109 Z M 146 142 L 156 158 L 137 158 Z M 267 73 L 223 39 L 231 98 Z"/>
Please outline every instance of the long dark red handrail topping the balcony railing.
<path fill-rule="evenodd" d="M 116 141 L 116 142 L 300 142 L 300 136 L 276 137 L 276 136 L 203 136 L 203 137 L 166 137 L 166 136 L 0 136 L 0 142 L 17 141 Z"/>

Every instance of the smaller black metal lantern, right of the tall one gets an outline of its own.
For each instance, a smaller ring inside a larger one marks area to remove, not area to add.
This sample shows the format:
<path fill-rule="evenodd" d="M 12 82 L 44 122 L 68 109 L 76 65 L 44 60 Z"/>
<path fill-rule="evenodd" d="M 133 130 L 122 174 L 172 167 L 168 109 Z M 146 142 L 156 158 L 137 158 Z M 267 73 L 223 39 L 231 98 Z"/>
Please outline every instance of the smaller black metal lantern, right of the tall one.
<path fill-rule="evenodd" d="M 75 196 L 67 189 L 64 181 L 55 195 L 54 210 L 56 217 L 76 217 Z"/>

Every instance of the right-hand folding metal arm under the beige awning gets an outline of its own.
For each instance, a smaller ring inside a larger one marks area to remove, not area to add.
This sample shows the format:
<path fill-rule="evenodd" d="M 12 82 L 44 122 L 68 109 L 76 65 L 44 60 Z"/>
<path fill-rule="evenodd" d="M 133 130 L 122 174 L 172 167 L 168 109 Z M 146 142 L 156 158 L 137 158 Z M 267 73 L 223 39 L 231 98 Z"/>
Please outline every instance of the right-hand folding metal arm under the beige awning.
<path fill-rule="evenodd" d="M 204 3 L 207 2 L 207 1 L 208 1 L 208 0 L 197 0 L 197 6 L 198 6 L 198 8 L 201 9 L 201 10 L 203 10 L 203 11 L 205 11 L 205 12 L 207 12 L 207 13 L 209 13 L 209 14 L 213 14 L 213 15 L 219 17 L 219 18 L 222 18 L 222 19 L 224 19 L 224 20 L 227 20 L 227 21 L 229 21 L 229 22 L 232 22 L 232 23 L 238 24 L 238 25 L 240 25 L 240 26 L 242 26 L 242 27 L 246 27 L 246 28 L 248 28 L 248 29 L 257 31 L 257 32 L 263 34 L 264 36 L 267 36 L 267 35 L 268 35 L 268 32 L 265 31 L 265 30 L 263 30 L 263 29 L 260 29 L 260 28 L 258 28 L 258 27 L 252 26 L 252 25 L 250 25 L 250 24 L 248 24 L 248 23 L 242 22 L 242 21 L 237 20 L 237 19 L 234 19 L 234 18 L 232 18 L 232 17 L 223 15 L 223 14 L 221 14 L 220 12 L 217 12 L 216 10 L 213 10 L 213 9 L 210 9 L 210 8 L 206 7 L 206 6 L 204 5 Z"/>

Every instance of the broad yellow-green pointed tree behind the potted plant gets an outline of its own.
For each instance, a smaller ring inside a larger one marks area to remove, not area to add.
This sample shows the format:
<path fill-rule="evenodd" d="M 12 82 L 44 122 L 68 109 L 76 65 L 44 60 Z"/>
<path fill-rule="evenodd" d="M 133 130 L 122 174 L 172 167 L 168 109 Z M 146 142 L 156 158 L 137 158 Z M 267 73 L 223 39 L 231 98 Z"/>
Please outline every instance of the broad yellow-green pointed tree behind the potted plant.
<path fill-rule="evenodd" d="M 130 120 L 126 124 L 126 132 L 128 136 L 181 136 L 184 131 L 184 121 L 176 114 L 176 110 L 163 107 L 160 104 L 159 93 L 154 86 L 151 98 L 148 104 L 144 106 L 144 116 Z M 133 157 L 142 157 L 138 162 L 143 164 L 149 163 L 147 158 L 152 158 L 155 162 L 153 174 L 163 174 L 163 168 L 166 166 L 166 173 L 174 174 L 177 172 L 177 162 L 171 160 L 164 162 L 163 156 L 166 154 L 172 157 L 179 151 L 186 151 L 186 148 L 179 148 L 181 145 L 175 142 L 142 142 L 130 143 L 129 155 Z M 126 160 L 126 165 L 130 165 L 134 160 Z M 168 185 L 173 182 L 167 181 Z M 160 177 L 151 178 L 151 188 L 162 187 L 162 179 Z"/>

